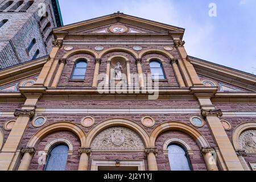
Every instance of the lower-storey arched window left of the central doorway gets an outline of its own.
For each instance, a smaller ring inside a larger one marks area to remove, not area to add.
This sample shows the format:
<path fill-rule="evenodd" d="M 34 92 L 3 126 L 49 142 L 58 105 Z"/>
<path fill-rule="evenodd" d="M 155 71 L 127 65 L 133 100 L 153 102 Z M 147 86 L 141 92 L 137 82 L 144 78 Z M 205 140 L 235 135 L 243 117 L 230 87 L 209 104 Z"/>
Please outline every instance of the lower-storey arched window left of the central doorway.
<path fill-rule="evenodd" d="M 57 144 L 49 152 L 44 171 L 65 171 L 68 159 L 68 146 Z"/>

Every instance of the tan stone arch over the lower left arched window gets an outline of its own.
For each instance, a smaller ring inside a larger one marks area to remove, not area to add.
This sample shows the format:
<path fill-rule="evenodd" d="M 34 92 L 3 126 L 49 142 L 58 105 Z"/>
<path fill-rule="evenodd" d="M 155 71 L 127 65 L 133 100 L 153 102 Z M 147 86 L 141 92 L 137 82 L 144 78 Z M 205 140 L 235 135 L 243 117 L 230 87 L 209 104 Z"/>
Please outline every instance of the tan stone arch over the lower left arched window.
<path fill-rule="evenodd" d="M 71 131 L 76 134 L 80 139 L 81 147 L 85 147 L 86 135 L 84 131 L 72 122 L 56 122 L 44 127 L 33 135 L 28 141 L 27 147 L 35 147 L 46 135 L 61 130 Z"/>

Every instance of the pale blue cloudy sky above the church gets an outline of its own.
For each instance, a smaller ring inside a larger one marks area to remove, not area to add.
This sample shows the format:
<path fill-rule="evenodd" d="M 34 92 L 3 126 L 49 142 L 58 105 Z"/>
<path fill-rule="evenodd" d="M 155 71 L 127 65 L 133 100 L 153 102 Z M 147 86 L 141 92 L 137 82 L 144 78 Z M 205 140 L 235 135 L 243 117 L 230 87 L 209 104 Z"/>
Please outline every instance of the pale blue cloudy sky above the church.
<path fill-rule="evenodd" d="M 185 28 L 189 56 L 256 75 L 255 0 L 59 0 L 63 23 L 120 11 Z"/>

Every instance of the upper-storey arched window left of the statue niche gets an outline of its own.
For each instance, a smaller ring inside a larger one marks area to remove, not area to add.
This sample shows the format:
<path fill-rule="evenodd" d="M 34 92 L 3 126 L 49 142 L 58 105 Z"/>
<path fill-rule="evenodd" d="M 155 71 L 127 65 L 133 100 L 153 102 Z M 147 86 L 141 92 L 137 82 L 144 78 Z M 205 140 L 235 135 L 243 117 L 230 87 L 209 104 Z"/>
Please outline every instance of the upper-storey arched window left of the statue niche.
<path fill-rule="evenodd" d="M 85 60 L 77 60 L 75 63 L 75 67 L 73 69 L 72 73 L 72 79 L 73 80 L 82 80 L 85 78 L 87 68 L 87 61 Z"/>

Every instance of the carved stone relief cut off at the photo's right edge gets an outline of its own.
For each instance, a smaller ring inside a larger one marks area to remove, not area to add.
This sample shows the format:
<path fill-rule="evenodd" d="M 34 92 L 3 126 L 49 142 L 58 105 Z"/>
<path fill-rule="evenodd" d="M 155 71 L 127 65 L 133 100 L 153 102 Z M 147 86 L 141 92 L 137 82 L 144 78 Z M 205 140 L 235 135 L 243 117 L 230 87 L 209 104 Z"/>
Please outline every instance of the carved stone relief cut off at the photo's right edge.
<path fill-rule="evenodd" d="M 256 130 L 246 130 L 239 137 L 240 146 L 245 152 L 256 153 Z"/>

